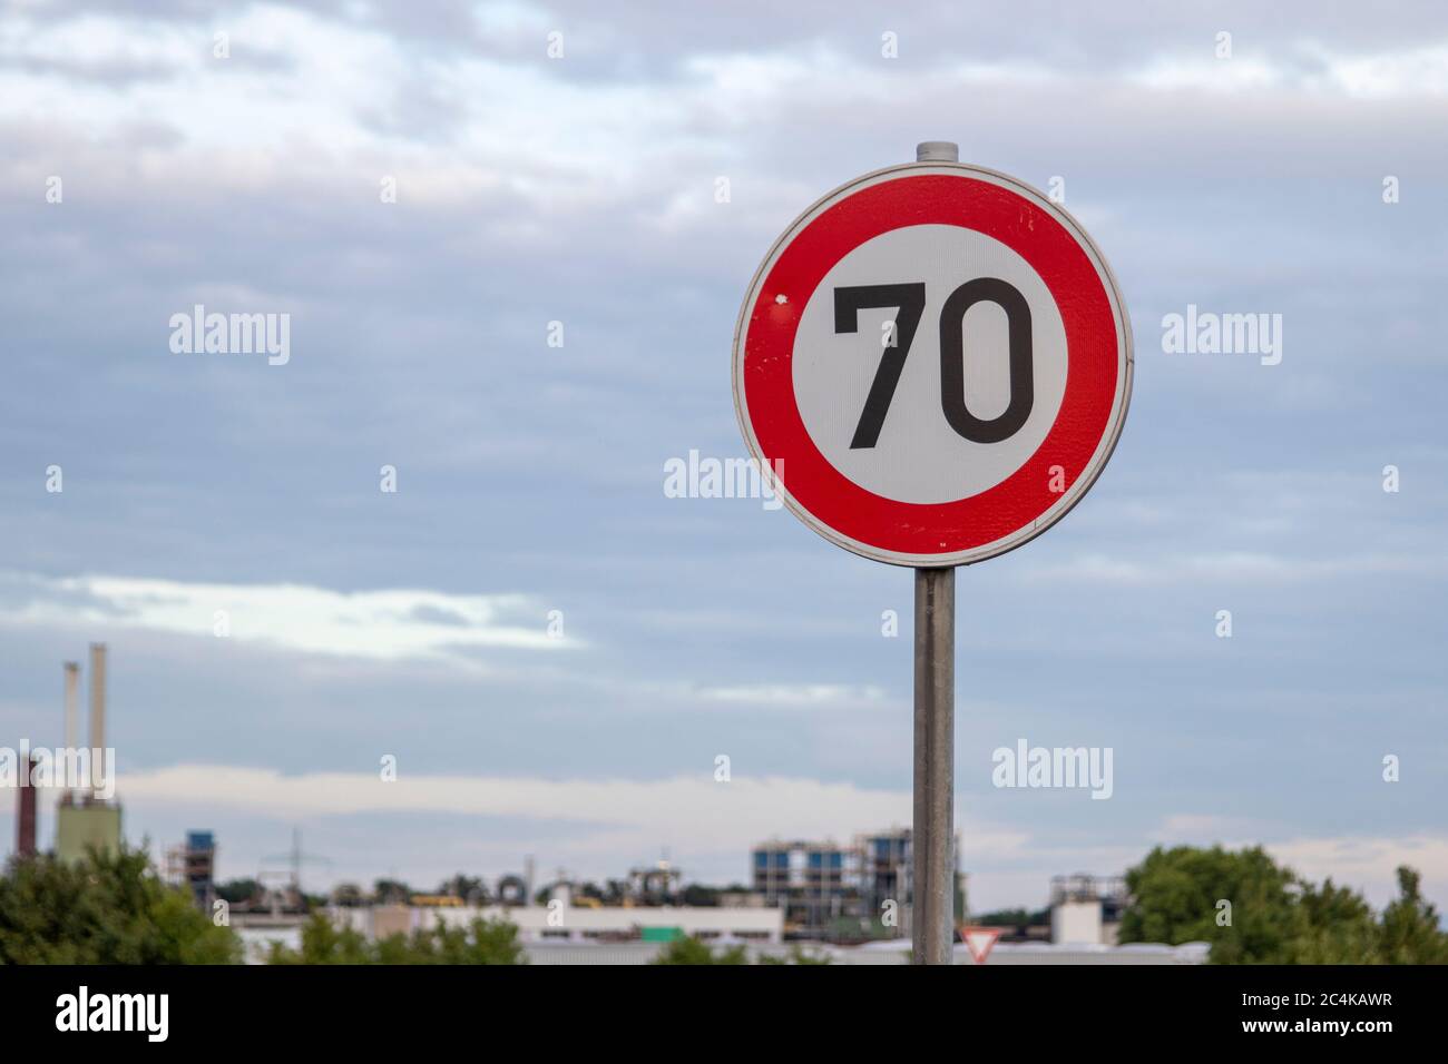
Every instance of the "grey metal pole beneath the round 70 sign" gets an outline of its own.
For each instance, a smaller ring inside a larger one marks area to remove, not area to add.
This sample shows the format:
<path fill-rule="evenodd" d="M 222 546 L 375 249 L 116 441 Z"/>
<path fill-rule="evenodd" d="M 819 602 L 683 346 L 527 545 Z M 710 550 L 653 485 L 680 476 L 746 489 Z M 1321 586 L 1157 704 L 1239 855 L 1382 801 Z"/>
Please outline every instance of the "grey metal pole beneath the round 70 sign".
<path fill-rule="evenodd" d="M 954 947 L 956 570 L 915 570 L 914 964 Z"/>

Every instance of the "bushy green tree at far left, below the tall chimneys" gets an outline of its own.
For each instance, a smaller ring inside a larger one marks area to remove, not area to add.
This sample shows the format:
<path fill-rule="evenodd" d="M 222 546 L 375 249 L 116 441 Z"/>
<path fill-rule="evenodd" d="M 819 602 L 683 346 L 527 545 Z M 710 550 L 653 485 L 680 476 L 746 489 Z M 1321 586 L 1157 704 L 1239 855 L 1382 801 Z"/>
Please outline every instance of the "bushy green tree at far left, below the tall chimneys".
<path fill-rule="evenodd" d="M 12 861 L 0 880 L 0 963 L 236 964 L 240 940 L 125 844 L 70 864 Z"/>

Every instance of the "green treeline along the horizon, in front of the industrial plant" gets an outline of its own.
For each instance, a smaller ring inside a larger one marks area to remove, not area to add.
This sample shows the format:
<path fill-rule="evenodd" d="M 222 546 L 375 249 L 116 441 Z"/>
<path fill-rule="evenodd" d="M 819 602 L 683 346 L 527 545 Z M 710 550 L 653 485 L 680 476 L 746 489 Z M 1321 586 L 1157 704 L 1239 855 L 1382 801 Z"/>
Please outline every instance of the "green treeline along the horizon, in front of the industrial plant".
<path fill-rule="evenodd" d="M 1397 870 L 1397 898 L 1381 912 L 1331 879 L 1312 883 L 1260 847 L 1153 850 L 1127 873 L 1122 942 L 1202 941 L 1216 964 L 1448 964 L 1448 932 Z M 1021 913 L 1027 915 L 1028 913 Z M 220 918 L 219 918 L 220 919 Z M 3 964 L 237 964 L 240 938 L 161 880 L 143 850 L 68 864 L 49 856 L 10 861 L 0 879 Z M 505 919 L 442 922 L 369 940 L 324 913 L 303 925 L 297 948 L 272 945 L 272 964 L 521 964 L 518 929 Z M 796 954 L 792 963 L 824 957 Z M 743 948 L 676 940 L 659 964 L 744 964 Z"/>

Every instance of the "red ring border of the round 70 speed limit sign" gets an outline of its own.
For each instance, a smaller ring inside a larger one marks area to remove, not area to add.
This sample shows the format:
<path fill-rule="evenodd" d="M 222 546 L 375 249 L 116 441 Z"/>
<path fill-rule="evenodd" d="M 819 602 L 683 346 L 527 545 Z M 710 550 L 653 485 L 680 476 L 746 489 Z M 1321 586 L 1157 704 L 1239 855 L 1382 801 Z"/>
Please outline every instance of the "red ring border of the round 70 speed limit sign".
<path fill-rule="evenodd" d="M 911 172 L 911 166 L 898 169 L 898 177 L 886 177 L 854 191 L 847 191 L 849 187 L 841 190 L 843 198 L 807 223 L 796 221 L 776 246 L 767 275 L 763 281 L 756 276 L 752 287 L 754 304 L 753 308 L 746 304 L 749 317 L 741 321 L 744 355 L 737 375 L 743 388 L 740 420 L 747 418 L 746 439 L 752 431 L 757 457 L 770 466 L 782 460 L 786 501 L 792 498 L 796 508 L 849 540 L 877 552 L 912 557 L 869 556 L 904 563 L 915 563 L 914 557 L 919 556 L 980 560 L 1025 540 L 980 552 L 979 557 L 959 556 L 1030 530 L 1063 498 L 1085 494 L 1105 465 L 1105 457 L 1095 466 L 1093 459 L 1102 440 L 1119 431 L 1129 398 L 1129 326 L 1105 259 L 1079 226 L 1067 229 L 1057 220 L 1044 197 L 1041 203 L 1032 201 L 1015 188 L 982 180 L 982 174 L 990 172 L 976 168 L 927 174 Z M 837 195 L 840 193 L 821 203 Z M 1064 211 L 1061 214 L 1070 220 Z M 961 226 L 1012 248 L 1050 290 L 1067 343 L 1061 407 L 1041 446 L 1001 484 L 977 495 L 940 504 L 889 499 L 846 478 L 809 439 L 794 389 L 795 333 L 814 290 L 844 255 L 866 240 L 918 224 Z M 1100 269 L 1087 248 L 1096 253 Z M 783 304 L 776 303 L 780 294 L 788 298 Z M 1127 329 L 1125 358 L 1116 329 L 1118 313 Z M 1119 388 L 1121 373 L 1127 375 L 1125 391 Z M 1122 392 L 1121 411 L 1114 424 L 1118 392 Z M 1050 468 L 1056 465 L 1064 469 L 1064 492 L 1050 491 Z M 1089 479 L 1073 492 L 1083 476 Z M 1074 501 L 1070 498 L 1072 504 Z M 857 550 L 850 543 L 841 541 L 841 546 Z"/>

